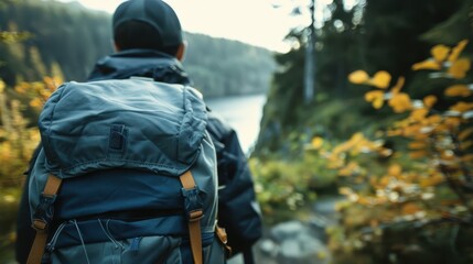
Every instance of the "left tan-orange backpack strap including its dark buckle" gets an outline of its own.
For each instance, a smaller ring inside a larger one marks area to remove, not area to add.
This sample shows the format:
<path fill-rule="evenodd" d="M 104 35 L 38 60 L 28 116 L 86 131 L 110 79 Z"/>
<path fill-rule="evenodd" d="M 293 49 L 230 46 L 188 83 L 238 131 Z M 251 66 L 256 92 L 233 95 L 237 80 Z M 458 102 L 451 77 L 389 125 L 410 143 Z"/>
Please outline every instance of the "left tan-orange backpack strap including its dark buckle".
<path fill-rule="evenodd" d="M 28 264 L 40 264 L 44 254 L 44 249 L 47 241 L 47 229 L 51 219 L 53 218 L 53 202 L 56 199 L 57 190 L 61 187 L 62 178 L 52 174 L 47 177 L 43 194 L 41 194 L 40 205 L 33 215 L 32 228 L 36 230 L 33 245 L 28 255 Z"/>

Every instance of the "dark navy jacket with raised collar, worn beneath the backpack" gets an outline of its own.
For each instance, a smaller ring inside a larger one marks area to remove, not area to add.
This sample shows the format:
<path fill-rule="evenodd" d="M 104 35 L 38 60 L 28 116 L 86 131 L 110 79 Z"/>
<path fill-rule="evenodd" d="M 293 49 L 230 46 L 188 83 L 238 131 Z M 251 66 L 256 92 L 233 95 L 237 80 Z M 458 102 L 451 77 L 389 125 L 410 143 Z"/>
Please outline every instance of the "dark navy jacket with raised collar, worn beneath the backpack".
<path fill-rule="evenodd" d="M 150 50 L 129 50 L 97 62 L 89 80 L 153 78 L 168 84 L 192 85 L 182 64 L 166 54 Z M 209 110 L 209 109 L 208 109 Z M 234 253 L 243 252 L 251 263 L 251 245 L 262 234 L 262 222 L 254 183 L 236 132 L 209 110 L 207 121 L 215 148 L 219 180 L 218 223 L 228 233 Z M 34 157 L 33 157 L 34 160 Z M 28 191 L 24 191 L 18 223 L 17 258 L 23 263 L 34 233 L 30 228 Z"/>

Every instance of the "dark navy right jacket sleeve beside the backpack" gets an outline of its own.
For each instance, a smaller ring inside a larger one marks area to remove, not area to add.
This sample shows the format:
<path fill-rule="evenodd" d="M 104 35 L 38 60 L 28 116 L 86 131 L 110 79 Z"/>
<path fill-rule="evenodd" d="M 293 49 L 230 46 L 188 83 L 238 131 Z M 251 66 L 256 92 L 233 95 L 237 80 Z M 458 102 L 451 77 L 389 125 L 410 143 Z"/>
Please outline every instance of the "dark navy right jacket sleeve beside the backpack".
<path fill-rule="evenodd" d="M 212 112 L 207 129 L 217 151 L 218 224 L 226 229 L 233 253 L 245 252 L 262 235 L 252 176 L 236 132 Z"/>

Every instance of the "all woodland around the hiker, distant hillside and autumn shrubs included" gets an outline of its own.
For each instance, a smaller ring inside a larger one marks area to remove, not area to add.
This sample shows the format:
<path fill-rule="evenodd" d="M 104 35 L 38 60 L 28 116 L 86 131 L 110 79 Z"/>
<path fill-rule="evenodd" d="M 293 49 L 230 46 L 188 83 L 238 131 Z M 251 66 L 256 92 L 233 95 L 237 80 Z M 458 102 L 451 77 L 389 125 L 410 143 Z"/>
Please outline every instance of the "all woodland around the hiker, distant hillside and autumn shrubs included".
<path fill-rule="evenodd" d="M 310 100 L 308 26 L 288 32 L 292 48 L 283 54 L 186 35 L 195 50 L 185 66 L 204 95 L 268 96 L 249 157 L 267 229 L 294 219 L 313 224 L 314 202 L 335 197 L 326 252 L 303 263 L 473 263 L 473 0 L 358 0 L 350 8 L 333 0 L 325 11 L 313 29 Z M 67 4 L 2 0 L 0 12 L 0 205 L 8 211 L 0 255 L 11 260 L 20 172 L 39 141 L 29 119 L 57 78 L 86 78 L 84 65 L 110 52 L 110 37 L 108 25 L 97 26 L 107 23 L 104 13 Z M 35 23 L 25 19 L 32 15 Z M 94 18 L 94 31 L 80 28 Z M 35 26 L 40 21 L 50 24 Z M 65 37 L 79 32 L 84 43 Z M 41 34 L 51 40 L 34 37 Z M 217 69 L 232 78 L 216 79 Z"/>

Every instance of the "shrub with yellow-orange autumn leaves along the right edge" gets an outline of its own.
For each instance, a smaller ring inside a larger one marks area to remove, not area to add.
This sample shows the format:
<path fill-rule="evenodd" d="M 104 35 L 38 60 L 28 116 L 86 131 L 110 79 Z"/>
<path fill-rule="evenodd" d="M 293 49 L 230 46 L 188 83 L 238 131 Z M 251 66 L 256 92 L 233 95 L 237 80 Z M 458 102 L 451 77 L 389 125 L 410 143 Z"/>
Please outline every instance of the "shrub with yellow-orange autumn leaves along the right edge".
<path fill-rule="evenodd" d="M 376 141 L 362 133 L 335 147 L 313 140 L 327 167 L 347 179 L 340 189 L 347 198 L 338 207 L 341 224 L 331 230 L 331 248 L 342 256 L 340 263 L 344 256 L 359 255 L 366 263 L 473 260 L 473 244 L 466 239 L 473 233 L 472 75 L 470 59 L 461 56 L 466 45 L 467 41 L 454 47 L 436 45 L 431 58 L 413 65 L 415 70 L 433 69 L 431 78 L 456 82 L 439 97 L 413 99 L 402 91 L 404 77 L 389 87 L 386 72 L 350 75 L 351 81 L 375 88 L 365 96 L 374 108 L 389 106 L 401 119 Z M 441 97 L 451 98 L 448 106 L 438 105 Z M 387 146 L 390 138 L 408 144 Z"/>

